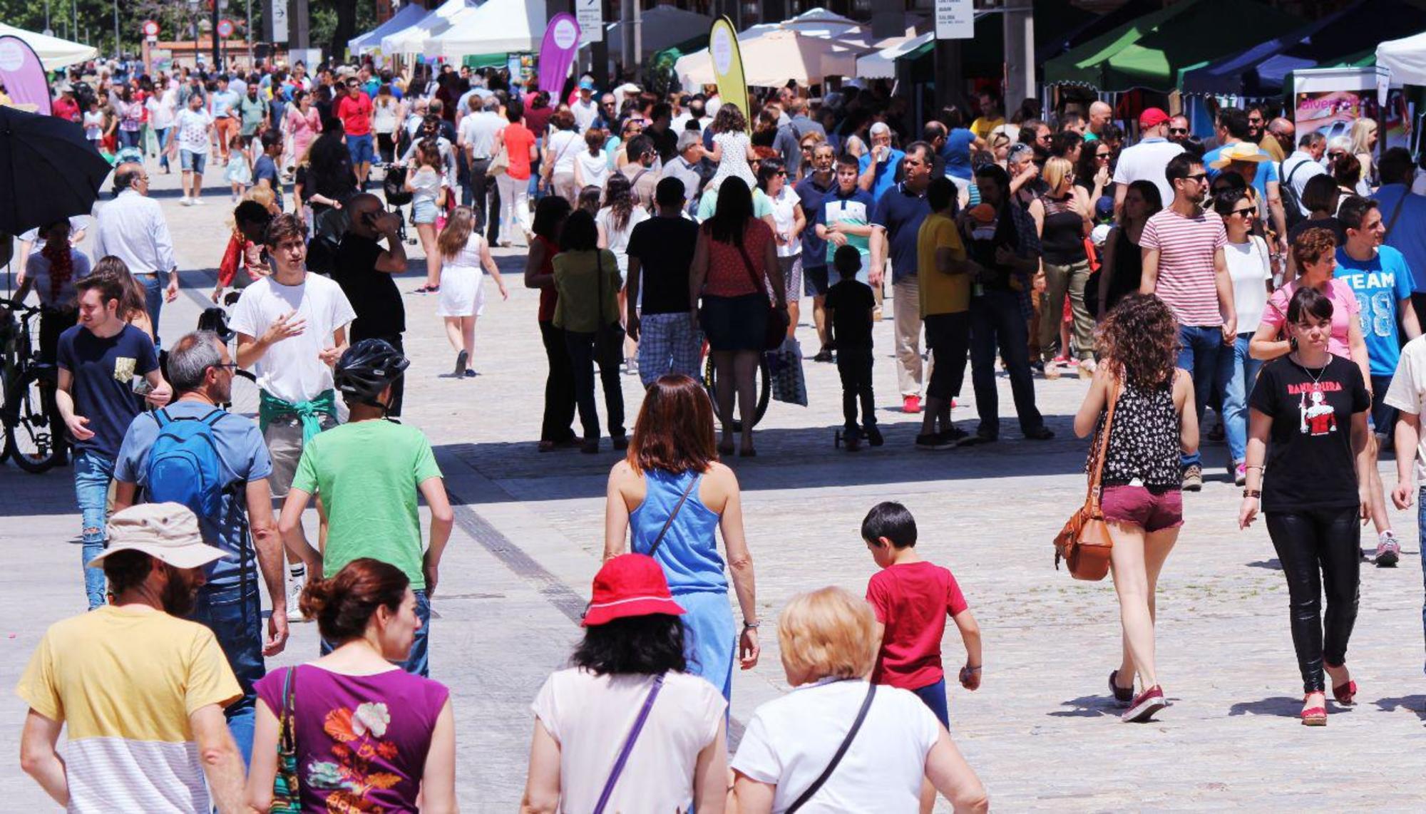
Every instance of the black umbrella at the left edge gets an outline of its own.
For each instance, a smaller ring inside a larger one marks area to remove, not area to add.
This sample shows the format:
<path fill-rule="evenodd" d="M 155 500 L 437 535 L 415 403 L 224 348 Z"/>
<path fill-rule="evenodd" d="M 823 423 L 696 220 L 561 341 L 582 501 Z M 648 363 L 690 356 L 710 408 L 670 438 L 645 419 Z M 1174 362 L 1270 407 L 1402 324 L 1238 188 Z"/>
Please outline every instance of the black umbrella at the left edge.
<path fill-rule="evenodd" d="M 78 124 L 0 105 L 0 232 L 87 215 L 111 171 Z"/>

